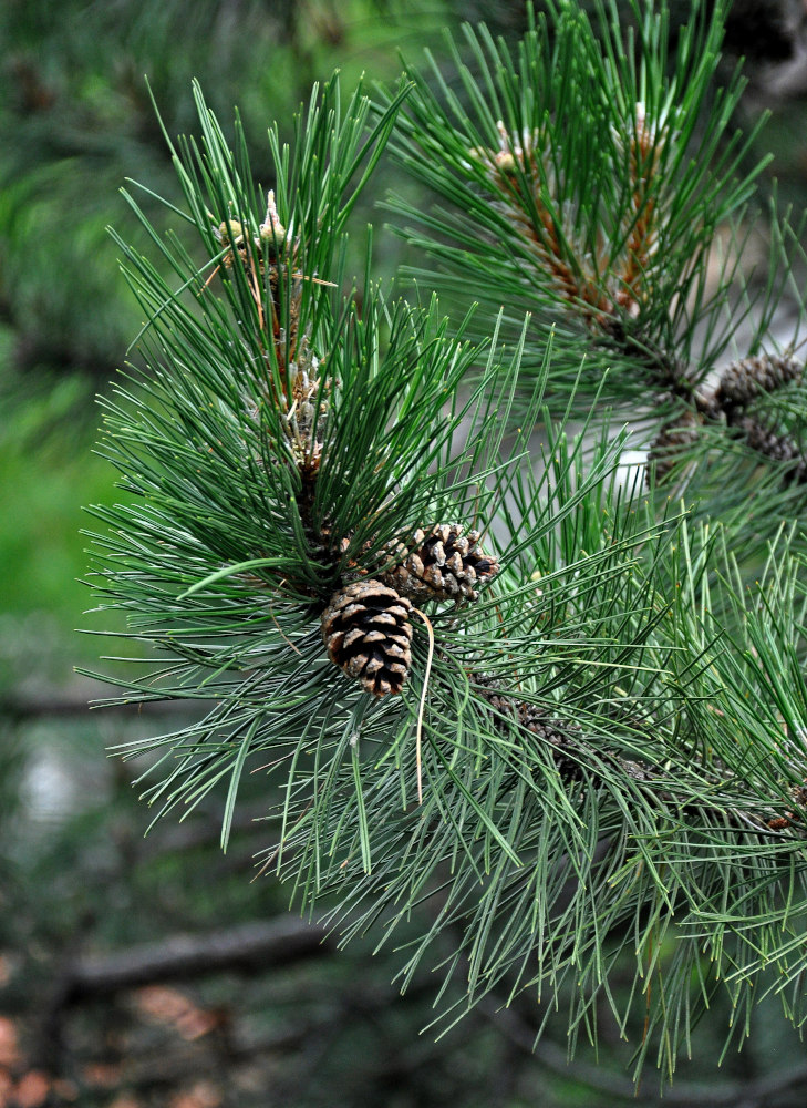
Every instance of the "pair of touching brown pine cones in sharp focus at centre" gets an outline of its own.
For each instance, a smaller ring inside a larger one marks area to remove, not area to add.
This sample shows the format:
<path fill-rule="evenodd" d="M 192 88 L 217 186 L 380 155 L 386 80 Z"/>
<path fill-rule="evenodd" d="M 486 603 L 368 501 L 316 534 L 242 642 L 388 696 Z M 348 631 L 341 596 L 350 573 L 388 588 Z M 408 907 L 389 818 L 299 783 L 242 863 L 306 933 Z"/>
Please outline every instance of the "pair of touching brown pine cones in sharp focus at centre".
<path fill-rule="evenodd" d="M 418 530 L 413 544 L 389 543 L 390 566 L 342 586 L 322 613 L 328 656 L 373 696 L 400 693 L 412 664 L 414 605 L 427 599 L 475 601 L 498 562 L 479 547 L 479 533 L 458 523 Z"/>

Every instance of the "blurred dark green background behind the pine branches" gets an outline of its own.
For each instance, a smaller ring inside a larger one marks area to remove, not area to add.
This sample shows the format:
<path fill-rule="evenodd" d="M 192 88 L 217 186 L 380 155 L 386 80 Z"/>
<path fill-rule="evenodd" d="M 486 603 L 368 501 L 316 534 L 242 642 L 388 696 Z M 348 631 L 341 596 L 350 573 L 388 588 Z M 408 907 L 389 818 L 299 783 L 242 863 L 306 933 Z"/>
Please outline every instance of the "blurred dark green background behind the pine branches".
<path fill-rule="evenodd" d="M 689 3 L 680 8 L 683 18 Z M 115 623 L 86 613 L 81 529 L 92 520 L 82 505 L 120 496 L 93 453 L 94 398 L 142 322 L 106 228 L 134 242 L 142 234 L 118 193 L 126 177 L 177 199 L 145 78 L 172 136 L 196 129 L 193 78 L 223 124 L 237 104 L 268 187 L 266 129 L 277 119 L 290 134 L 315 81 L 335 68 L 345 91 L 362 73 L 394 81 L 399 49 L 441 58 L 443 29 L 463 19 L 515 38 L 526 9 L 517 0 L 0 4 L 0 1108 L 634 1099 L 625 1067 L 635 1036 L 622 1042 L 604 1010 L 599 1055 L 581 1033 L 571 1066 L 562 1013 L 534 1053 L 544 1014 L 530 997 L 506 1012 L 494 998 L 454 1027 L 423 1032 L 434 1018 L 427 974 L 402 997 L 394 952 L 374 955 L 373 936 L 339 951 L 320 921 L 288 912 L 288 890 L 256 879 L 254 854 L 275 834 L 259 776 L 246 783 L 226 855 L 224 794 L 144 837 L 152 817 L 137 801 L 138 768 L 106 750 L 173 729 L 179 710 L 90 711 L 106 689 L 74 673 L 103 668 L 99 655 L 117 650 L 97 637 Z M 772 112 L 764 188 L 776 178 L 796 209 L 807 201 L 805 22 L 805 0 L 737 0 L 727 37 L 732 58 L 748 58 L 737 122 Z M 382 165 L 354 219 L 376 224 L 380 276 L 403 257 L 375 208 L 393 183 Z M 715 1069 L 727 1016 L 700 1026 L 663 1102 L 804 1108 L 807 1053 L 775 1007 L 761 1006 L 744 1051 Z M 639 1102 L 659 1096 L 649 1073 Z"/>

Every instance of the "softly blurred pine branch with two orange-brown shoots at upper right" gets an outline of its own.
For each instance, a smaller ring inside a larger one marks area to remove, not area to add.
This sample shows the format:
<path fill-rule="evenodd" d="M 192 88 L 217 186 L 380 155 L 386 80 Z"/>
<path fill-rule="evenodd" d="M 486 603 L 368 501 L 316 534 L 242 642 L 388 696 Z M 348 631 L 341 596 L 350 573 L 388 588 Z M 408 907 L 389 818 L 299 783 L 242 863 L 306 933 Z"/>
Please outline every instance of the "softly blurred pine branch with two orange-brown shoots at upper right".
<path fill-rule="evenodd" d="M 515 49 L 484 25 L 466 28 L 469 60 L 448 42 L 453 72 L 431 58 L 428 71 L 407 68 L 413 94 L 393 148 L 448 204 L 424 212 L 392 198 L 408 222 L 400 233 L 435 263 L 411 274 L 452 297 L 506 304 L 506 322 L 515 325 L 519 309 L 531 312 L 527 369 L 541 365 L 551 328 L 547 400 L 556 412 L 573 396 L 583 414 L 610 367 L 602 399 L 632 420 L 639 409 L 656 479 L 669 486 L 693 466 L 705 469 L 707 452 L 742 445 L 748 471 L 762 461 L 782 473 L 789 510 L 799 512 L 803 418 L 788 430 L 761 422 L 710 384 L 752 312 L 758 318 L 742 363 L 767 343 L 772 311 L 803 253 L 783 220 L 764 285 L 752 293 L 738 270 L 746 203 L 763 164 L 745 167 L 755 135 L 727 133 L 743 82 L 735 74 L 713 89 L 724 8 L 693 9 L 671 63 L 666 6 L 633 4 L 631 14 L 635 40 L 628 42 L 615 3 L 598 6 L 592 23 L 575 3 L 550 4 Z M 726 228 L 728 254 L 707 289 Z M 762 491 L 755 500 L 764 504 Z"/>

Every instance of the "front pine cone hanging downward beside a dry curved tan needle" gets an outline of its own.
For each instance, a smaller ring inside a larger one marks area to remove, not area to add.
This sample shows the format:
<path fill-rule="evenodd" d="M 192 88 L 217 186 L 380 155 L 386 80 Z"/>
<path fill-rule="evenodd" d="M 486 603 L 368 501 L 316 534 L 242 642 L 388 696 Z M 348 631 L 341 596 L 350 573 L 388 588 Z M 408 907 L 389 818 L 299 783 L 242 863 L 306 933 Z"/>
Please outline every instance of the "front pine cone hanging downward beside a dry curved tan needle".
<path fill-rule="evenodd" d="M 400 693 L 412 664 L 412 604 L 372 577 L 340 588 L 322 613 L 328 656 L 368 693 Z"/>

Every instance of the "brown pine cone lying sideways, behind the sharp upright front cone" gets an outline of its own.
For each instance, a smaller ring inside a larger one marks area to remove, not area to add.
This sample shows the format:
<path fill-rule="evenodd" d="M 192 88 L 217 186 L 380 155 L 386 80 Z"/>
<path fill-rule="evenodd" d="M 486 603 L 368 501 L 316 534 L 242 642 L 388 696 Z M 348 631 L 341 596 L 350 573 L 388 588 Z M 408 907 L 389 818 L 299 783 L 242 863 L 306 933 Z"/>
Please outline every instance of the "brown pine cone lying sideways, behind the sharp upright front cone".
<path fill-rule="evenodd" d="M 474 586 L 499 572 L 496 558 L 479 548 L 479 532 L 464 535 L 459 523 L 441 523 L 428 533 L 418 529 L 414 543 L 408 553 L 403 543 L 387 545 L 391 554 L 401 555 L 401 564 L 389 570 L 383 579 L 415 602 L 475 601 L 479 594 Z"/>

